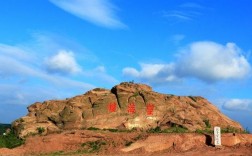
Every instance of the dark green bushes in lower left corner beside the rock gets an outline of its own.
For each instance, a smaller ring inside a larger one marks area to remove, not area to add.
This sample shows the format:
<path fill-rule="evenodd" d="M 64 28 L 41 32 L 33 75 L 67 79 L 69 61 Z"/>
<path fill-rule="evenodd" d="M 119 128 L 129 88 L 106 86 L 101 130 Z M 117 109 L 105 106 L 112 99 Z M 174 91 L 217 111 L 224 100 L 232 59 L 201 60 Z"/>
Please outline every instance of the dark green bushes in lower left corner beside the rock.
<path fill-rule="evenodd" d="M 0 135 L 0 148 L 15 148 L 24 143 L 23 139 L 16 136 L 13 130 L 9 134 L 3 136 Z"/>

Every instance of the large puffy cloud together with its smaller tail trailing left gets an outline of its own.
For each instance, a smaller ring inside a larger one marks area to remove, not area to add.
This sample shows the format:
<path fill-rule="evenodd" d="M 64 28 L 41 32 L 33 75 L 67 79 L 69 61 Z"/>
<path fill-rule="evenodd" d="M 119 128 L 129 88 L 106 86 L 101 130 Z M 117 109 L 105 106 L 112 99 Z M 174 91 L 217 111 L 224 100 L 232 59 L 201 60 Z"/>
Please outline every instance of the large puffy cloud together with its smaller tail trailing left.
<path fill-rule="evenodd" d="M 195 42 L 166 64 L 140 64 L 141 69 L 123 69 L 125 77 L 150 83 L 177 82 L 192 77 L 205 82 L 242 79 L 249 75 L 250 64 L 234 43 Z"/>

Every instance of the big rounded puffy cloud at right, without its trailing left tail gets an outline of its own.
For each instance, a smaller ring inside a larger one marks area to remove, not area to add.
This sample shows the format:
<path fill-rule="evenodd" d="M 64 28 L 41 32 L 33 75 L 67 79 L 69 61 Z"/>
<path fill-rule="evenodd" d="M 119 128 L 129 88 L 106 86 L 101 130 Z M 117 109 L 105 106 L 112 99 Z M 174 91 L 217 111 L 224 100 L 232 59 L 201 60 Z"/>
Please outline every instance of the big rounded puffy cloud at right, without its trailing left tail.
<path fill-rule="evenodd" d="M 184 49 L 176 64 L 180 77 L 196 77 L 207 82 L 244 78 L 250 64 L 234 43 L 195 42 Z"/>

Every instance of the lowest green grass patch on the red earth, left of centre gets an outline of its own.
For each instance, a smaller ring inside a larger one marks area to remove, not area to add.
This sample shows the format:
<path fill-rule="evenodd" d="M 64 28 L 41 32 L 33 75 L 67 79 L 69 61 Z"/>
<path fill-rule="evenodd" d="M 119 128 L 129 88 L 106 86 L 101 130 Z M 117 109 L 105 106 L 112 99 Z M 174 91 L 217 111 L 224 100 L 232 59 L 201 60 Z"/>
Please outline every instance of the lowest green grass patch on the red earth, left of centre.
<path fill-rule="evenodd" d="M 106 142 L 97 140 L 97 141 L 88 141 L 83 144 L 81 144 L 81 147 L 83 147 L 83 150 L 87 153 L 94 153 L 98 152 L 102 146 L 106 145 Z"/>

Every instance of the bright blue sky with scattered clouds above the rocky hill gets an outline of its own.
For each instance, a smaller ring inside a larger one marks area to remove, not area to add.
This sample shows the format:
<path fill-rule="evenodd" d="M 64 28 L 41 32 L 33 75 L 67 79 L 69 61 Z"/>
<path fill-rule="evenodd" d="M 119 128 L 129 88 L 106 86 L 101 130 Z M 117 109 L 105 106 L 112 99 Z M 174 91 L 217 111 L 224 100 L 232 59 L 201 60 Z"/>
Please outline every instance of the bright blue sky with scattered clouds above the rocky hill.
<path fill-rule="evenodd" d="M 203 96 L 252 131 L 252 1 L 2 0 L 0 123 L 123 81 Z"/>

